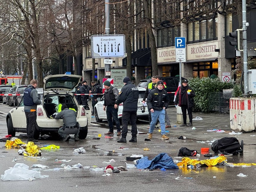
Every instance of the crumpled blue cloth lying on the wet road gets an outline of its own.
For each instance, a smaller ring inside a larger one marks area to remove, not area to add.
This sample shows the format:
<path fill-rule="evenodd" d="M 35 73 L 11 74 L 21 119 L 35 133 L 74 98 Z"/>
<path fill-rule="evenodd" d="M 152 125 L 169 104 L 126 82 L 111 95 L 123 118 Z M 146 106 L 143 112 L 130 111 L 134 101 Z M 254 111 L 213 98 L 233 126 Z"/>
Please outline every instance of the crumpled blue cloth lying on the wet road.
<path fill-rule="evenodd" d="M 137 169 L 179 169 L 167 153 L 160 153 L 152 160 L 145 156 L 137 161 L 136 167 Z"/>

